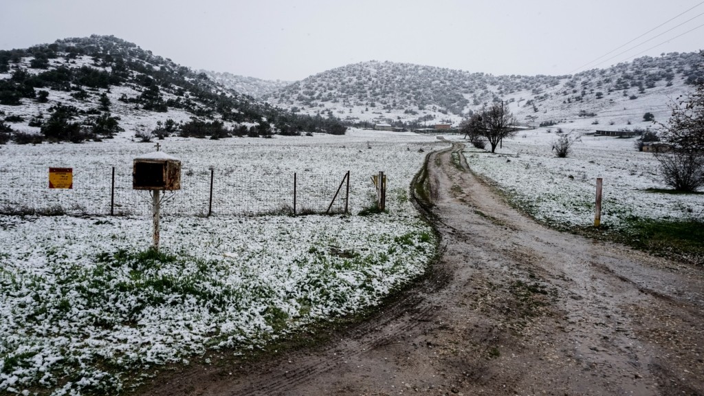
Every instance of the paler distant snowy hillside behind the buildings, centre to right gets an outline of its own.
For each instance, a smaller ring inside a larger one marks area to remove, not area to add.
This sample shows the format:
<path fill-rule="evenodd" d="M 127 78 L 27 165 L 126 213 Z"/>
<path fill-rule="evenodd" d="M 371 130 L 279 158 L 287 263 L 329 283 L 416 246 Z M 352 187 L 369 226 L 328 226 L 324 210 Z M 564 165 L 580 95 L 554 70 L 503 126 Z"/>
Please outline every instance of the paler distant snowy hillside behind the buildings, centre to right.
<path fill-rule="evenodd" d="M 594 125 L 623 128 L 646 112 L 665 120 L 668 102 L 703 78 L 696 69 L 702 61 L 695 52 L 671 53 L 562 76 L 494 76 L 370 61 L 310 76 L 266 98 L 292 111 L 333 115 L 349 123 L 401 126 L 448 120 L 456 125 L 483 104 L 503 100 L 529 125 L 588 118 Z"/>

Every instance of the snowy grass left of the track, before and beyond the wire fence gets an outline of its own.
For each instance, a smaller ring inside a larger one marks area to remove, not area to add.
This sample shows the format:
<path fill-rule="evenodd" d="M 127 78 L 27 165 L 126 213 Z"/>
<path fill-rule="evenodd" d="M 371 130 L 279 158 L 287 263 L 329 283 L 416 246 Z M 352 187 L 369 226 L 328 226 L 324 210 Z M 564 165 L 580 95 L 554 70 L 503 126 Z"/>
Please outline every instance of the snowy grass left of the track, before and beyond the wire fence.
<path fill-rule="evenodd" d="M 148 366 L 208 348 L 243 353 L 306 323 L 377 304 L 435 254 L 432 230 L 408 202 L 425 153 L 447 147 L 435 137 L 352 130 L 345 137 L 175 139 L 164 147 L 188 166 L 239 172 L 349 170 L 370 185 L 384 171 L 389 213 L 168 216 L 161 256 L 149 254 L 145 216 L 1 216 L 0 392 L 114 393 Z M 131 163 L 151 147 L 125 140 L 0 151 L 3 167 L 80 168 Z"/>

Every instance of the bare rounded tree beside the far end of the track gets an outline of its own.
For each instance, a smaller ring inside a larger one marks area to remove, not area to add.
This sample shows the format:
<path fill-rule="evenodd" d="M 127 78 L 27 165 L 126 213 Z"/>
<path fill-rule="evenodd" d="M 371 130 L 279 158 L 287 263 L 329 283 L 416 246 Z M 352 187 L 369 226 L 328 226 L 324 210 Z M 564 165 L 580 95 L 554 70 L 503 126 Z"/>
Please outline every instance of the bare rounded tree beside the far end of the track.
<path fill-rule="evenodd" d="M 469 136 L 470 140 L 476 140 L 477 137 L 486 138 L 493 153 L 504 137 L 516 135 L 517 130 L 513 128 L 516 124 L 515 117 L 508 110 L 508 104 L 502 101 L 492 104 L 489 108 L 482 106 L 482 109 L 460 124 L 460 130 L 465 136 Z"/>

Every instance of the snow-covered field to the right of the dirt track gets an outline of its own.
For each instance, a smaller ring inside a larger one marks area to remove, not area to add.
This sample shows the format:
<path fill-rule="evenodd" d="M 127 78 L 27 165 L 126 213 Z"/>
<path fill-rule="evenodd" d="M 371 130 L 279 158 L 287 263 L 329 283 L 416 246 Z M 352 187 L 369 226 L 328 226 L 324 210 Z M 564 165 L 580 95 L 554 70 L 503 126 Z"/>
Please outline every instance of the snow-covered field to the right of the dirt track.
<path fill-rule="evenodd" d="M 575 128 L 579 128 L 576 125 Z M 602 225 L 622 228 L 629 219 L 686 219 L 704 216 L 703 194 L 664 194 L 653 154 L 636 151 L 634 138 L 583 135 L 567 158 L 552 143 L 557 128 L 518 132 L 498 155 L 467 145 L 470 168 L 508 192 L 540 221 L 562 227 L 594 221 L 596 178 L 603 179 Z M 570 132 L 565 128 L 565 133 Z"/>

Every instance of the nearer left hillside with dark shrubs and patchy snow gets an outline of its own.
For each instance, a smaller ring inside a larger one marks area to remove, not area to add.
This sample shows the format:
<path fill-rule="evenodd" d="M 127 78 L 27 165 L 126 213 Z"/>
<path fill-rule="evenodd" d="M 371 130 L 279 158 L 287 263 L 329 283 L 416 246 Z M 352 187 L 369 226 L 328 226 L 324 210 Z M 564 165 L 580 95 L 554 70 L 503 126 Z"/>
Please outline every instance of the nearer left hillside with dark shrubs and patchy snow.
<path fill-rule="evenodd" d="M 0 144 L 300 135 L 335 123 L 261 103 L 113 36 L 0 51 Z"/>

